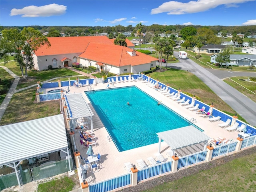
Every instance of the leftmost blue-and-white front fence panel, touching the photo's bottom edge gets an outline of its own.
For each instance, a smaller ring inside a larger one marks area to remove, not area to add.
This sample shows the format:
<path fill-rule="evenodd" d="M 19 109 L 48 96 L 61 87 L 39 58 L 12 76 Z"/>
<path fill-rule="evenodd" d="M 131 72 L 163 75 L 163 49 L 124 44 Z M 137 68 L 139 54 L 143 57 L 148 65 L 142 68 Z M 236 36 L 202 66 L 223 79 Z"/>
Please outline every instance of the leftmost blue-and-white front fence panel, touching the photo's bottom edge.
<path fill-rule="evenodd" d="M 90 192 L 107 192 L 131 184 L 131 173 L 89 185 Z"/>

